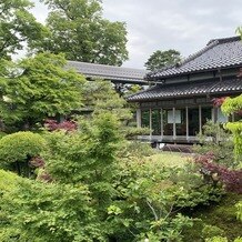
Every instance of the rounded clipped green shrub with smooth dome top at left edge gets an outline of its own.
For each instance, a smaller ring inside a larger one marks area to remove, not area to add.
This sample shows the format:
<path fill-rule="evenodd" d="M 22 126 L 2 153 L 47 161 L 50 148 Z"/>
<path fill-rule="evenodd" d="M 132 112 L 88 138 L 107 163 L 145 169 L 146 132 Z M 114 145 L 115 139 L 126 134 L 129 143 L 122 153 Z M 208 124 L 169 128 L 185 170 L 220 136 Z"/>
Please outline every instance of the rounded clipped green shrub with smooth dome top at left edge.
<path fill-rule="evenodd" d="M 0 167 L 24 174 L 29 171 L 29 161 L 39 155 L 46 147 L 40 134 L 32 132 L 18 132 L 3 137 L 0 140 Z"/>

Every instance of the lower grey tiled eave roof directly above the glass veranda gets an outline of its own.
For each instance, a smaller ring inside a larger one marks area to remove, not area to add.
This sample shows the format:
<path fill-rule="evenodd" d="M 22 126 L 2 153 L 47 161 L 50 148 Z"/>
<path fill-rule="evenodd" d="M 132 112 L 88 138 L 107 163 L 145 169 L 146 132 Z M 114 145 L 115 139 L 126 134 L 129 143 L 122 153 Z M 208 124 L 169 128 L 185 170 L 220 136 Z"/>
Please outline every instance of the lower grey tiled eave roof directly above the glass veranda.
<path fill-rule="evenodd" d="M 230 79 L 222 81 L 196 81 L 175 84 L 157 84 L 145 91 L 128 97 L 128 101 L 145 101 L 158 99 L 171 99 L 179 97 L 222 94 L 242 92 L 242 80 Z"/>

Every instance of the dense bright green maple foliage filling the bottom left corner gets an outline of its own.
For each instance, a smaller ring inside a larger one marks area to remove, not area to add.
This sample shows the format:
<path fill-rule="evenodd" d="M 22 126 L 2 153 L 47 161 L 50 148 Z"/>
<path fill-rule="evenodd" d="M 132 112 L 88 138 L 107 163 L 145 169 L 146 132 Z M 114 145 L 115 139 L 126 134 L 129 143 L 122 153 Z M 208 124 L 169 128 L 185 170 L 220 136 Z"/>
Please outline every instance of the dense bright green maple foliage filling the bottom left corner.
<path fill-rule="evenodd" d="M 89 191 L 82 184 L 18 179 L 12 190 L 1 193 L 0 208 L 1 213 L 4 211 L 0 220 L 2 242 L 32 241 L 33 236 L 40 242 L 105 241 L 95 222 Z"/>

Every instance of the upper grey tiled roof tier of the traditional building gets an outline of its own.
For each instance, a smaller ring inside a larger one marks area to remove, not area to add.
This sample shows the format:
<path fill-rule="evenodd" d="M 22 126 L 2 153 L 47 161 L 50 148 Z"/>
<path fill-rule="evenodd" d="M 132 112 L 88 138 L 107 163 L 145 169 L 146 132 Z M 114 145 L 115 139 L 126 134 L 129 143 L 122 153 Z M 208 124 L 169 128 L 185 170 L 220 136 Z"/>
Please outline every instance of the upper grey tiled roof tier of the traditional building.
<path fill-rule="evenodd" d="M 150 72 L 149 81 L 192 72 L 204 72 L 242 65 L 242 41 L 239 37 L 211 40 L 206 47 L 190 56 L 180 64 Z"/>

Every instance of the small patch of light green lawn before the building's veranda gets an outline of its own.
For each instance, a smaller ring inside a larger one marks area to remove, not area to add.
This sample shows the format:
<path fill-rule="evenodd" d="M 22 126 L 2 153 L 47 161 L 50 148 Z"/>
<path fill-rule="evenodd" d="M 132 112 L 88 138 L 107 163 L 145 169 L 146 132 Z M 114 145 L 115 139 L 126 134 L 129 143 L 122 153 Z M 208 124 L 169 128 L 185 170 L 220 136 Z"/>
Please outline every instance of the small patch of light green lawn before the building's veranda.
<path fill-rule="evenodd" d="M 191 161 L 191 155 L 179 152 L 159 151 L 155 154 L 148 157 L 147 161 L 149 161 L 151 165 L 154 165 L 155 168 L 182 168 Z"/>

